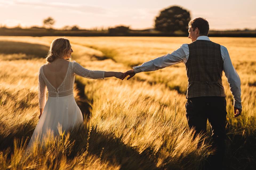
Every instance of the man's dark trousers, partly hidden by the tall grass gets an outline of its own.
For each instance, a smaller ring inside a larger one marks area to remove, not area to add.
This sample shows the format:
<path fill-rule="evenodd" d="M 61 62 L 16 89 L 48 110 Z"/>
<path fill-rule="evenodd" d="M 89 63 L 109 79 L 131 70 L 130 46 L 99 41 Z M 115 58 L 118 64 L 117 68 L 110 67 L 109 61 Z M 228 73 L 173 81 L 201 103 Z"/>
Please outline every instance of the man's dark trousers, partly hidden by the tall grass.
<path fill-rule="evenodd" d="M 226 99 L 219 96 L 203 96 L 187 99 L 186 117 L 195 133 L 206 132 L 207 119 L 212 129 L 215 154 L 210 155 L 206 169 L 221 169 L 225 153 Z"/>

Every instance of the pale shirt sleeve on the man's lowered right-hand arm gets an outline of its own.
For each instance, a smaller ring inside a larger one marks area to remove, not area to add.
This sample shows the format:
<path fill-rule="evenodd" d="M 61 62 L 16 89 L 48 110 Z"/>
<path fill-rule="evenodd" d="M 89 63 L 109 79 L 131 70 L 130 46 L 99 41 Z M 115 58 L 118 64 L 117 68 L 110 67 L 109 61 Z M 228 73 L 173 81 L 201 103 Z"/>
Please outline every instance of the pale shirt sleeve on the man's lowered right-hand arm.
<path fill-rule="evenodd" d="M 229 83 L 230 91 L 234 98 L 234 107 L 242 108 L 241 104 L 241 80 L 234 66 L 232 65 L 229 52 L 227 48 L 221 46 L 223 56 L 223 71 L 227 77 L 227 82 Z"/>

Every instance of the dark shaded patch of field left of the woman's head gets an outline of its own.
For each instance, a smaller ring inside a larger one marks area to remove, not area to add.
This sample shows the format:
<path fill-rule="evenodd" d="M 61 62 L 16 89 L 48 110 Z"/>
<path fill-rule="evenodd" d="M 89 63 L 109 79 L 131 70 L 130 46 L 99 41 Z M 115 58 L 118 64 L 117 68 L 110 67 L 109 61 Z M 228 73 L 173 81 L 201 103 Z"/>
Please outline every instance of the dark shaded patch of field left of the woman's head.
<path fill-rule="evenodd" d="M 6 60 L 45 58 L 49 46 L 16 41 L 0 41 L 0 54 L 23 54 L 7 57 Z M 24 55 L 25 54 L 25 55 Z"/>

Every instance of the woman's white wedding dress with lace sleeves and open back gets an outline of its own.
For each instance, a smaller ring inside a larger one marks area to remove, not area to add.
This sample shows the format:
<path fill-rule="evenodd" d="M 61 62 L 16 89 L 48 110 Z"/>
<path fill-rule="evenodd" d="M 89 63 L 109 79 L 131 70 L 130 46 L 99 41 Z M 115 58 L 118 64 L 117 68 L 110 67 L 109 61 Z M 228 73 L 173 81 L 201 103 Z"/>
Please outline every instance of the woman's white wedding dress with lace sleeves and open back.
<path fill-rule="evenodd" d="M 42 140 L 42 136 L 47 132 L 47 129 L 51 129 L 54 134 L 58 134 L 58 124 L 62 126 L 63 132 L 71 126 L 83 123 L 81 110 L 75 102 L 73 94 L 75 75 L 90 79 L 104 79 L 105 71 L 88 70 L 75 61 L 69 61 L 65 78 L 56 89 L 46 78 L 43 65 L 40 67 L 38 73 L 38 98 L 39 108 L 44 109 L 27 149 L 37 135 L 39 140 Z M 48 90 L 47 101 L 46 87 Z"/>

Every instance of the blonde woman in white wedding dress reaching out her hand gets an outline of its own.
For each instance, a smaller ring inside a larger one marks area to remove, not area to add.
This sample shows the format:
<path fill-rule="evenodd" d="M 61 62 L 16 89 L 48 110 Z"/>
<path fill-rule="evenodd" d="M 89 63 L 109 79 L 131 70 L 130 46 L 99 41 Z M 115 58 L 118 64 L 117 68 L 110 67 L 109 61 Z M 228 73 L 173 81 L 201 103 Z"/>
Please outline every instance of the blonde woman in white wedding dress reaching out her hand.
<path fill-rule="evenodd" d="M 43 64 L 38 73 L 39 121 L 29 141 L 31 146 L 36 136 L 51 129 L 58 134 L 58 124 L 62 131 L 71 126 L 83 123 L 83 116 L 75 102 L 73 88 L 75 75 L 89 79 L 116 77 L 122 79 L 123 73 L 112 71 L 88 70 L 75 61 L 71 61 L 73 50 L 66 38 L 57 38 L 51 43 L 47 63 Z M 48 99 L 46 101 L 46 87 Z"/>

